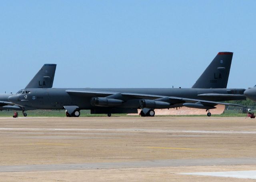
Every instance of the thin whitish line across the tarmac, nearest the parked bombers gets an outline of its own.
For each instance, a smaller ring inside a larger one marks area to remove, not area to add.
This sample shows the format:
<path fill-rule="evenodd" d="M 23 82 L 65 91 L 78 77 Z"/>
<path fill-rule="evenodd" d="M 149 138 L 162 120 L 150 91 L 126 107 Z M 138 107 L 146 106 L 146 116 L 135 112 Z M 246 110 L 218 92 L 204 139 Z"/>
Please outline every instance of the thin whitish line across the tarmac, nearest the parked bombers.
<path fill-rule="evenodd" d="M 156 133 L 222 133 L 222 134 L 256 134 L 256 131 L 233 131 L 233 130 L 221 130 L 221 131 L 207 131 L 207 130 L 166 130 L 166 129 L 143 129 L 143 128 L 130 128 L 130 129 L 93 129 L 93 128 L 0 128 L 0 131 L 109 131 L 109 132 L 156 132 Z"/>

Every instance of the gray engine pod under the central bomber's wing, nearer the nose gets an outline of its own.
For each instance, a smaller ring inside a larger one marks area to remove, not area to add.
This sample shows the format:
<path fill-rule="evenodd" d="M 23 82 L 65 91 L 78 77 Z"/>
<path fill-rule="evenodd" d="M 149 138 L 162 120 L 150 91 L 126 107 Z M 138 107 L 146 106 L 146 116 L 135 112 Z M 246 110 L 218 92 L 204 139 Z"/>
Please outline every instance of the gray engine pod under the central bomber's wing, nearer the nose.
<path fill-rule="evenodd" d="M 121 105 L 123 102 L 124 101 L 120 99 L 110 99 L 106 97 L 93 97 L 90 101 L 92 106 L 118 106 Z"/>

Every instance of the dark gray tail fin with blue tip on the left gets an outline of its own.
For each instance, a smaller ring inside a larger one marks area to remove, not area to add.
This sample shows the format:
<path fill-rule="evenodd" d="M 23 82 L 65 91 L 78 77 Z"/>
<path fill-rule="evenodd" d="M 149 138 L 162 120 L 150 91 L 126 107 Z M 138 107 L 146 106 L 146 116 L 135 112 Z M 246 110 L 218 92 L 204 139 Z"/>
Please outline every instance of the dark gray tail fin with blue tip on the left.
<path fill-rule="evenodd" d="M 56 64 L 44 64 L 26 88 L 52 88 Z"/>

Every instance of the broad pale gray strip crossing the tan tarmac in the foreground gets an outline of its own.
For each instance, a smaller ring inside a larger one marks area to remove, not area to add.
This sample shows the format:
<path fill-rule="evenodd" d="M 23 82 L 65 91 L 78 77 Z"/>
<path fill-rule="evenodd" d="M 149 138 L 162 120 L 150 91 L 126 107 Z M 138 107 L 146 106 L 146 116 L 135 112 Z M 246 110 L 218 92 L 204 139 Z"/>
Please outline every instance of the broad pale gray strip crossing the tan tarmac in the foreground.
<path fill-rule="evenodd" d="M 226 166 L 255 165 L 256 158 L 212 158 L 212 159 L 164 159 L 141 160 L 126 162 L 94 162 L 94 163 L 64 163 L 64 164 L 24 164 L 0 166 L 0 174 L 8 172 L 53 172 L 76 170 L 108 170 L 108 169 L 140 169 L 140 168 L 170 168 L 184 166 Z"/>

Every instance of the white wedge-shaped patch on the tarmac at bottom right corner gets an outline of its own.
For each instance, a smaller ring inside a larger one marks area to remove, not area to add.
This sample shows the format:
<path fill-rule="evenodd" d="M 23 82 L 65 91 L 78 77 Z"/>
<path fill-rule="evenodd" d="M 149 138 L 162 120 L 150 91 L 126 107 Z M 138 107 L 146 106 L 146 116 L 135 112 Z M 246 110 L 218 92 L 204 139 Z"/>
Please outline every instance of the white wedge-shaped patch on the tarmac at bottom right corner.
<path fill-rule="evenodd" d="M 224 171 L 224 172 L 191 172 L 191 173 L 180 173 L 180 174 L 256 179 L 256 170 Z"/>

